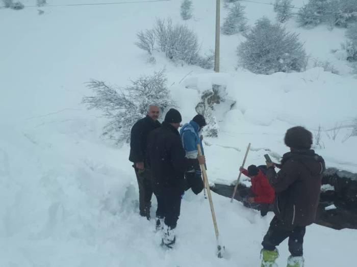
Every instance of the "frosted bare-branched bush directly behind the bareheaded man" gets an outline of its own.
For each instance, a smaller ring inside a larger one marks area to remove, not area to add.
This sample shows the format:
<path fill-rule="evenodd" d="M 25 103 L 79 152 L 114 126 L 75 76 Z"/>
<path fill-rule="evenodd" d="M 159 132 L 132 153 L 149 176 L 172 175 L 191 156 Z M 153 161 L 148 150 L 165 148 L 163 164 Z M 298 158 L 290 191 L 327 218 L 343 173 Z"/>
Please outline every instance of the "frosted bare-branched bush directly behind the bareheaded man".
<path fill-rule="evenodd" d="M 133 124 L 146 115 L 150 104 L 158 105 L 162 113 L 175 106 L 166 81 L 165 70 L 141 76 L 123 88 L 92 79 L 87 87 L 95 95 L 83 97 L 82 103 L 87 109 L 102 111 L 109 119 L 104 127 L 104 136 L 115 140 L 116 144 L 129 142 Z"/>

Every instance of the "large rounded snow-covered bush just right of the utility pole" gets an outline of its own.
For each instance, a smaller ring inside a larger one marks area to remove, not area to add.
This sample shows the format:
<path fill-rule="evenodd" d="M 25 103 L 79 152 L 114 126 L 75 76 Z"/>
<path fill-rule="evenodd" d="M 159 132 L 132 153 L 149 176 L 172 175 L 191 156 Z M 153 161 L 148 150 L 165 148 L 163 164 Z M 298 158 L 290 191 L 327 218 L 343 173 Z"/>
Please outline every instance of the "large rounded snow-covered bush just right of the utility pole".
<path fill-rule="evenodd" d="M 246 41 L 238 46 L 241 65 L 254 73 L 301 71 L 307 56 L 298 34 L 288 33 L 266 17 L 259 19 L 246 34 Z"/>

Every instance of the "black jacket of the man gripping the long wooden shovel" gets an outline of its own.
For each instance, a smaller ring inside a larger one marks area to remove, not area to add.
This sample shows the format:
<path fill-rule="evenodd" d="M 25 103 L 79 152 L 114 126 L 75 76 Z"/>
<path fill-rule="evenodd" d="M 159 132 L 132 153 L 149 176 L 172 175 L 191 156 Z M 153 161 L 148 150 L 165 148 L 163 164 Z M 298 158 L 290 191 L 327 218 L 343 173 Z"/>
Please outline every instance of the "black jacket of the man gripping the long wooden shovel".
<path fill-rule="evenodd" d="M 147 143 L 147 164 L 151 169 L 154 188 L 176 188 L 184 192 L 186 171 L 199 168 L 196 158 L 187 158 L 180 133 L 175 127 L 163 122 L 150 132 Z"/>

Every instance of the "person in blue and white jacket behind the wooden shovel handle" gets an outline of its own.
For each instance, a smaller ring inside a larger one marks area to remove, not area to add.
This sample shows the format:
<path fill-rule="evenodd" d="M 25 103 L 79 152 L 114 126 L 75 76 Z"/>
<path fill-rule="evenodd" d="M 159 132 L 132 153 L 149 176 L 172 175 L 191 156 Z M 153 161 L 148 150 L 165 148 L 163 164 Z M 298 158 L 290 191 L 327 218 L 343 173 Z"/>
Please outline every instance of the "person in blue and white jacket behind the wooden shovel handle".
<path fill-rule="evenodd" d="M 202 115 L 196 115 L 193 119 L 186 123 L 180 130 L 182 145 L 186 151 L 187 158 L 197 158 L 198 150 L 197 144 L 200 144 L 202 154 L 202 140 L 200 137 L 200 130 L 206 126 L 205 117 Z M 201 170 L 198 168 L 196 170 L 190 170 L 185 173 L 185 178 L 187 181 L 187 190 L 192 189 L 193 193 L 196 195 L 203 190 L 203 181 L 201 177 Z"/>

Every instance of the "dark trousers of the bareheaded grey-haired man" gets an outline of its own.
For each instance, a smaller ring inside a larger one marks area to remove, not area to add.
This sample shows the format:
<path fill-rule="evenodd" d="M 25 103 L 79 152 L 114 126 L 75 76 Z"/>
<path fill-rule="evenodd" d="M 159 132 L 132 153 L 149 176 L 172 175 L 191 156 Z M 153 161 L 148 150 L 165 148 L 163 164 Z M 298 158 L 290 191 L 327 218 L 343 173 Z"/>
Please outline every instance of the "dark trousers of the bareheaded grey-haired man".
<path fill-rule="evenodd" d="M 139 210 L 140 215 L 150 218 L 150 207 L 152 197 L 151 172 L 148 169 L 144 171 L 135 168 L 136 178 L 139 186 Z"/>

